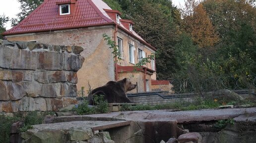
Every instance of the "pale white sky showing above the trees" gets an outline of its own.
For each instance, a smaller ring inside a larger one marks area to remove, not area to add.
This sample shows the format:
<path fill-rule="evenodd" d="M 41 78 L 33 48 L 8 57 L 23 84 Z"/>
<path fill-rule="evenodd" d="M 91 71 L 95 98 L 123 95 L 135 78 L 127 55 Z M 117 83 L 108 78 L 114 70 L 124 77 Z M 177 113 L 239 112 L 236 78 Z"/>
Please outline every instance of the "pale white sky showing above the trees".
<path fill-rule="evenodd" d="M 172 0 L 173 4 L 180 7 L 181 5 L 184 5 L 184 0 Z M 5 15 L 7 17 L 11 18 L 16 18 L 16 14 L 20 12 L 19 9 L 19 2 L 18 0 L 0 0 L 0 15 Z M 11 23 L 7 23 L 4 25 L 6 30 L 11 28 Z"/>

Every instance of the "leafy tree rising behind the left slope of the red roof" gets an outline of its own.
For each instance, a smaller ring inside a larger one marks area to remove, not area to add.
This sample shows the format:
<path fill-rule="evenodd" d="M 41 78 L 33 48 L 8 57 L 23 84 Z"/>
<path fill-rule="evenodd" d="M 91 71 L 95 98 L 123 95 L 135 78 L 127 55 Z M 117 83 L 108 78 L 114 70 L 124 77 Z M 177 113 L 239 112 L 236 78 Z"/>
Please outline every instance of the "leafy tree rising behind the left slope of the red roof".
<path fill-rule="evenodd" d="M 21 4 L 21 12 L 17 14 L 18 18 L 11 19 L 11 25 L 15 26 L 21 22 L 26 16 L 28 16 L 33 10 L 35 10 L 44 0 L 18 0 Z"/>

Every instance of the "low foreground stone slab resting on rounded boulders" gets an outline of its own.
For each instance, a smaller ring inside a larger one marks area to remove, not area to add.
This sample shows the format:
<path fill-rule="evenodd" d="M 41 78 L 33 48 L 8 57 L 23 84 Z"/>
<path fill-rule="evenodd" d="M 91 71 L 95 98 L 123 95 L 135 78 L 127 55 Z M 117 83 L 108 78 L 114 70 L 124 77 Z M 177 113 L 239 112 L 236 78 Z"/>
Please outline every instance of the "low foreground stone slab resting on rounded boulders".
<path fill-rule="evenodd" d="M 74 141 L 96 143 L 94 141 L 101 140 L 114 143 L 108 132 L 99 131 L 129 126 L 130 123 L 131 121 L 72 121 L 33 125 L 33 129 L 22 133 L 20 139 L 22 143 L 73 143 Z"/>

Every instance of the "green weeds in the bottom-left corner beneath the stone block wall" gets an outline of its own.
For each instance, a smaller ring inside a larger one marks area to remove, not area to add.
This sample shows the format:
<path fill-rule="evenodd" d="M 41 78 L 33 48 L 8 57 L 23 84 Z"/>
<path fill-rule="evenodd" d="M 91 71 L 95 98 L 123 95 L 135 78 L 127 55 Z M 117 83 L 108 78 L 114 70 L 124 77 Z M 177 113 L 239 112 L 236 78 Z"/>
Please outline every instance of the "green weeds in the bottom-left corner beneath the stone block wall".
<path fill-rule="evenodd" d="M 0 141 L 1 143 L 9 143 L 9 134 L 11 125 L 20 120 L 18 117 L 8 117 L 0 115 Z"/>

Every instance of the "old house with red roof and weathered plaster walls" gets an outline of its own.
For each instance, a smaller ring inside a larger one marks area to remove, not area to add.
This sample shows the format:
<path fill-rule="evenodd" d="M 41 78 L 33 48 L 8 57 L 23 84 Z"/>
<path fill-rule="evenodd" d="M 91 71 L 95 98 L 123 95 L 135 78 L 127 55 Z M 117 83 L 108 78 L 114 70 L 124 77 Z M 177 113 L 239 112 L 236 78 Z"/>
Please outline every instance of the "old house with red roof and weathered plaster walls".
<path fill-rule="evenodd" d="M 151 91 L 156 80 L 155 60 L 135 68 L 134 64 L 156 52 L 136 34 L 130 20 L 112 10 L 102 0 L 44 0 L 30 15 L 2 35 L 8 40 L 47 44 L 77 45 L 84 48 L 82 68 L 77 72 L 77 89 L 85 91 L 102 86 L 109 80 L 128 77 L 137 83 L 137 91 Z M 112 49 L 103 34 L 118 45 L 121 60 L 114 62 Z"/>

